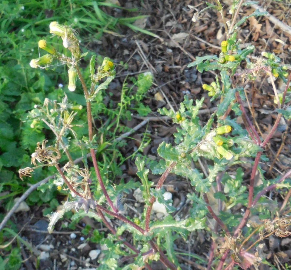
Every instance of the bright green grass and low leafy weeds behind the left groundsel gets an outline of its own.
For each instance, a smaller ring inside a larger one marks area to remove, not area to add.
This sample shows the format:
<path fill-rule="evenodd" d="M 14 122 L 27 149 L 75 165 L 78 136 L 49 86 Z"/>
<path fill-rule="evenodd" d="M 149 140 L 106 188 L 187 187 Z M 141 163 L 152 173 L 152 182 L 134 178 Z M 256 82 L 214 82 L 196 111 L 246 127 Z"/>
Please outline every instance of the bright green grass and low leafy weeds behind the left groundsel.
<path fill-rule="evenodd" d="M 120 35 L 120 30 L 128 27 L 136 32 L 153 35 L 133 25 L 137 19 L 143 18 L 143 16 L 139 15 L 137 8 L 126 9 L 127 12 L 134 14 L 134 16 L 127 18 L 122 16 L 122 12 L 119 12 L 119 16 L 109 15 L 110 11 L 116 8 L 122 10 L 119 6 L 104 3 L 103 1 L 87 1 L 85 5 L 84 2 L 81 3 L 80 1 L 27 2 L 20 0 L 13 4 L 11 1 L 2 1 L 0 3 L 0 59 L 2 63 L 0 67 L 0 202 L 3 210 L 10 210 L 14 205 L 15 197 L 25 193 L 27 187 L 35 184 L 35 182 L 39 181 L 38 179 L 52 175 L 49 169 L 38 169 L 35 170 L 31 178 L 21 181 L 17 172 L 20 166 L 29 166 L 31 164 L 30 155 L 34 152 L 35 142 L 42 142 L 45 138 L 50 140 L 54 136 L 45 122 L 33 122 L 31 120 L 35 116 L 32 115 L 33 112 L 31 112 L 31 118 L 29 119 L 25 115 L 34 105 L 41 104 L 45 98 L 62 100 L 64 88 L 66 87 L 63 82 L 67 80 L 67 71 L 65 71 L 63 65 L 55 65 L 46 70 L 33 69 L 29 66 L 30 60 L 39 54 L 36 50 L 37 40 L 39 38 L 47 38 L 64 55 L 69 53 L 61 44 L 58 45 L 57 39 L 55 37 L 52 38 L 47 31 L 49 23 L 55 20 L 61 22 L 65 20 L 67 24 L 73 25 L 88 39 L 94 39 L 95 41 L 102 38 L 102 34 L 105 32 L 110 32 L 112 35 Z M 92 52 L 89 52 L 84 59 L 89 61 L 91 56 Z M 99 64 L 102 64 L 101 55 L 98 55 L 96 59 Z M 84 71 L 84 74 L 86 72 L 89 74 L 89 67 Z M 133 110 L 138 110 L 141 115 L 145 115 L 149 111 L 146 106 L 139 105 L 140 99 L 143 98 L 144 93 L 147 91 L 147 86 L 145 86 L 145 80 L 147 79 L 145 78 L 148 78 L 147 75 L 141 74 L 138 78 L 127 79 L 131 86 L 127 86 L 126 82 L 124 83 L 122 88 L 122 93 L 124 94 L 122 95 L 120 106 L 115 107 L 113 104 L 109 104 L 106 110 L 104 103 L 102 103 L 103 107 L 100 106 L 101 103 L 96 108 L 93 106 L 93 117 L 98 118 L 97 114 L 102 110 L 103 117 L 106 117 L 108 121 L 102 123 L 102 127 L 99 130 L 104 137 L 110 136 L 111 141 L 99 147 L 107 148 L 106 154 L 102 155 L 112 175 L 120 172 L 119 163 L 125 158 L 122 157 L 119 151 L 116 151 L 117 146 L 120 147 L 123 142 L 120 138 L 115 140 L 116 132 L 112 132 L 109 125 L 114 125 L 118 132 L 126 133 L 128 131 L 126 127 L 122 127 L 118 122 L 120 119 L 123 120 L 123 118 L 130 116 L 120 113 L 121 111 L 124 112 L 123 108 L 133 106 Z M 149 78 L 147 81 L 151 84 L 151 80 Z M 132 88 L 134 87 L 139 89 L 138 93 L 133 93 Z M 69 93 L 69 98 L 79 100 L 78 106 L 75 107 L 79 109 L 79 114 L 74 117 L 77 125 L 76 132 L 86 135 L 88 134 L 88 129 L 81 126 L 86 122 L 86 116 L 82 114 L 84 108 L 81 109 L 79 107 L 86 104 L 84 95 L 74 92 Z M 98 98 L 100 96 L 96 97 L 96 99 Z M 110 134 L 107 135 L 108 133 Z M 141 143 L 141 147 L 144 143 L 146 143 L 146 140 Z M 100 149 L 102 150 L 102 148 Z M 75 147 L 76 149 L 79 148 Z M 79 154 L 74 153 L 73 147 L 71 151 L 73 158 L 79 157 Z M 139 151 L 140 149 L 137 149 L 137 152 Z M 112 153 L 114 153 L 115 157 Z M 41 190 L 43 192 L 27 192 L 28 198 L 26 202 L 28 205 L 47 205 L 44 213 L 48 214 L 59 205 L 56 199 L 59 194 L 58 186 L 47 184 L 42 186 Z M 0 214 L 1 220 L 5 217 L 3 214 L 5 211 Z M 4 228 L 1 232 L 0 243 L 3 246 L 7 244 L 5 239 L 15 237 L 15 233 L 19 231 L 19 228 L 11 221 L 8 221 L 8 227 L 10 228 Z M 18 248 L 14 249 L 12 245 L 8 245 L 7 247 L 5 246 L 3 251 L 0 264 L 5 269 L 18 269 L 19 265 L 21 265 L 21 255 L 18 252 Z M 14 256 L 15 254 L 17 254 L 16 257 Z"/>

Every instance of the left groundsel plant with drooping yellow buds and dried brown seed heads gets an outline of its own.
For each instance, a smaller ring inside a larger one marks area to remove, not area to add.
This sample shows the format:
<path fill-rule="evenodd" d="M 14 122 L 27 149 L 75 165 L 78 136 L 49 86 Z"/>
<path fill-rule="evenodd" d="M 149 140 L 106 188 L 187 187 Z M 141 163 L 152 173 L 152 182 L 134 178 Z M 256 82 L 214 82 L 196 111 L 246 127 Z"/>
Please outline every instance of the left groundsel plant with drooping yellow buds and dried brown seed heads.
<path fill-rule="evenodd" d="M 42 106 L 35 106 L 35 109 L 30 112 L 30 116 L 33 119 L 31 126 L 34 127 L 38 121 L 43 121 L 52 130 L 56 138 L 54 143 L 51 144 L 48 143 L 48 140 L 38 142 L 35 152 L 31 155 L 34 167 L 20 169 L 19 175 L 21 178 L 29 177 L 36 168 L 54 166 L 59 173 L 59 177 L 54 181 L 55 185 L 59 190 L 64 189 L 69 195 L 69 200 L 63 203 L 62 209 L 49 215 L 49 232 L 53 231 L 55 223 L 63 217 L 65 212 L 72 209 L 79 212 L 82 209 L 83 213 L 103 222 L 112 233 L 112 236 L 109 234 L 107 238 L 103 238 L 100 242 L 110 250 L 110 252 L 104 252 L 105 256 L 102 258 L 100 269 L 119 269 L 119 265 L 124 265 L 128 261 L 132 261 L 132 259 L 134 259 L 134 263 L 127 264 L 131 268 L 146 267 L 151 269 L 149 263 L 152 260 L 160 260 L 167 268 L 177 269 L 176 262 L 164 253 L 165 248 L 161 244 L 161 241 L 164 242 L 162 240 L 164 235 L 160 234 L 159 231 L 167 224 L 167 226 L 173 228 L 181 228 L 182 234 L 186 235 L 184 231 L 202 228 L 201 222 L 195 221 L 193 218 L 175 222 L 173 219 L 168 218 L 165 224 L 164 222 L 156 222 L 155 226 L 150 224 L 150 209 L 154 201 L 152 195 L 154 189 L 150 189 L 152 183 L 147 180 L 149 170 L 145 168 L 145 162 L 140 158 L 136 159 L 136 165 L 139 168 L 137 174 L 144 184 L 142 188 L 143 197 L 145 198 L 145 203 L 149 205 L 146 208 L 147 213 L 143 215 L 144 220 L 140 220 L 139 218 L 131 219 L 125 216 L 123 209 L 119 210 L 119 208 L 122 208 L 120 203 L 122 194 L 126 193 L 129 188 L 137 187 L 139 184 L 136 185 L 133 182 L 124 184 L 121 182 L 119 186 L 113 188 L 109 183 L 109 179 L 105 179 L 105 181 L 102 179 L 95 154 L 96 142 L 95 136 L 93 136 L 91 112 L 91 103 L 95 102 L 96 95 L 99 91 L 106 89 L 114 78 L 115 66 L 109 58 L 105 57 L 102 65 L 95 70 L 95 56 L 93 56 L 89 64 L 91 87 L 88 89 L 79 68 L 79 61 L 86 53 L 81 54 L 80 52 L 79 39 L 76 32 L 68 26 L 52 22 L 50 24 L 50 33 L 62 38 L 63 46 L 71 52 L 72 57 L 58 52 L 46 40 L 40 40 L 38 42 L 39 48 L 45 50 L 48 54 L 32 59 L 30 66 L 32 68 L 46 68 L 55 64 L 67 65 L 68 88 L 70 91 L 75 91 L 76 80 L 79 78 L 86 101 L 88 138 L 83 137 L 80 140 L 74 130 L 78 126 L 74 124 L 74 117 L 78 110 L 82 109 L 82 106 L 72 105 L 65 94 L 61 102 L 46 98 Z M 76 162 L 74 163 L 70 155 L 70 137 L 68 134 L 73 135 L 79 141 L 83 157 L 83 165 L 80 167 L 75 164 Z M 92 159 L 93 170 L 88 166 L 87 150 Z M 63 155 L 66 156 L 68 162 L 63 168 L 60 168 L 60 159 L 62 159 L 62 162 L 64 160 Z M 165 172 L 155 189 L 155 192 L 159 193 L 160 197 L 162 197 L 162 192 L 159 189 L 167 174 Z M 91 185 L 94 181 L 98 185 Z M 96 186 L 97 189 L 97 191 L 94 190 L 94 193 L 91 190 L 92 186 Z M 98 194 L 99 196 L 94 196 L 93 194 Z M 150 197 L 151 201 L 149 201 Z M 121 225 L 115 228 L 108 217 L 119 219 Z M 127 231 L 127 234 L 132 234 L 133 243 L 126 241 L 123 236 L 124 231 Z M 171 230 L 169 232 L 171 233 Z M 158 237 L 162 238 L 158 239 Z M 123 258 L 118 261 L 121 257 Z"/>

